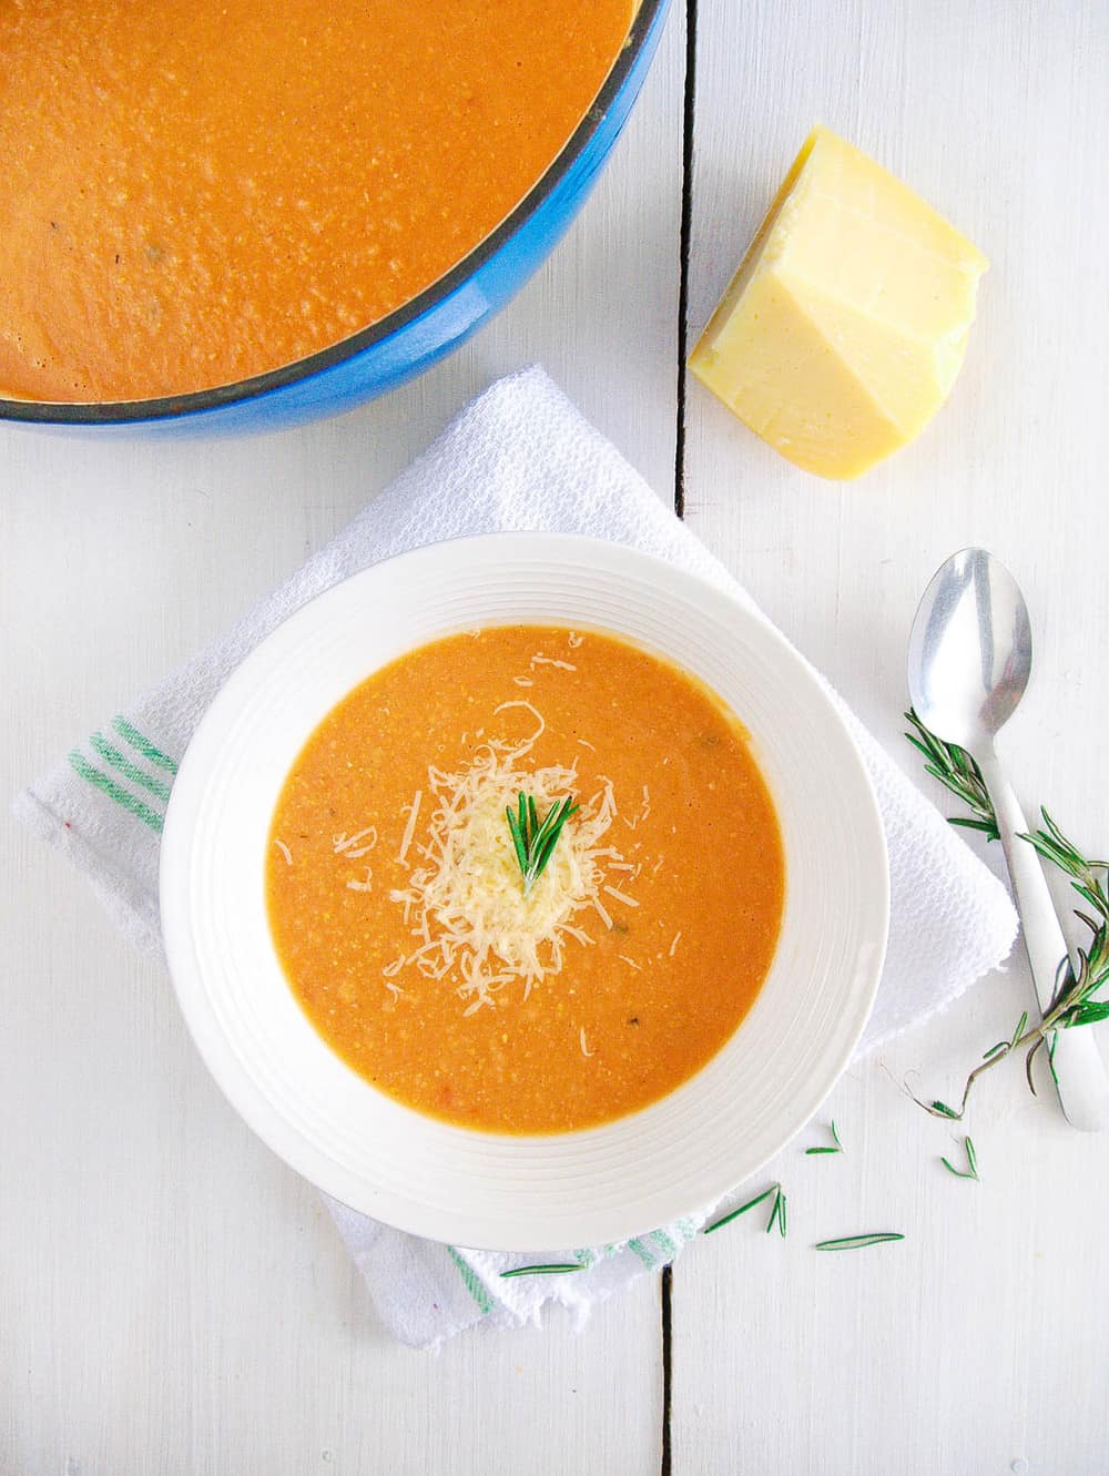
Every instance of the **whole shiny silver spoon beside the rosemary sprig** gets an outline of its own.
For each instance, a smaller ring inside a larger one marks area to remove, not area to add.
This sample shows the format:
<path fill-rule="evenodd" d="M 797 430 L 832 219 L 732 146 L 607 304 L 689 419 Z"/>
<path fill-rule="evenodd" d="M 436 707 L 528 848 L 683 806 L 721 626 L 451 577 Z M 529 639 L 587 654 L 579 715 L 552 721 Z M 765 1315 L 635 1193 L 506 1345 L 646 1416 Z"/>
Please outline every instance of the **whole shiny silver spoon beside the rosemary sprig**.
<path fill-rule="evenodd" d="M 1041 1011 L 1056 992 L 1066 940 L 1020 804 L 994 750 L 1032 669 L 1028 607 L 1009 570 L 985 549 L 941 565 L 920 601 L 908 641 L 908 689 L 920 720 L 978 762 L 994 801 Z M 1088 1027 L 1060 1030 L 1054 1070 L 1068 1122 L 1093 1132 L 1109 1122 L 1109 1077 Z"/>

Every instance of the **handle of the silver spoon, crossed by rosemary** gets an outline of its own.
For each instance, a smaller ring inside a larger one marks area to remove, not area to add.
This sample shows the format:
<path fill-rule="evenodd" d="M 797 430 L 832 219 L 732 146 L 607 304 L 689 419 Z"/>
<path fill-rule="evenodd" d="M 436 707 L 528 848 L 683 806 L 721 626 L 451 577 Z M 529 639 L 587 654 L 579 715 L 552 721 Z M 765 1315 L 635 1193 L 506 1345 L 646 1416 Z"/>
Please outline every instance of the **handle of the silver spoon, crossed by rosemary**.
<path fill-rule="evenodd" d="M 1040 1010 L 1046 1013 L 1054 998 L 1059 965 L 1068 956 L 1066 939 L 1059 925 L 1040 856 L 1028 841 L 1017 838 L 1028 834 L 1028 822 L 1020 801 L 1001 772 L 997 754 L 982 756 L 978 763 L 989 799 L 994 801 L 1032 982 Z M 1097 1132 L 1109 1125 L 1109 1077 L 1088 1026 L 1056 1033 L 1053 1066 L 1066 1120 L 1084 1132 Z"/>

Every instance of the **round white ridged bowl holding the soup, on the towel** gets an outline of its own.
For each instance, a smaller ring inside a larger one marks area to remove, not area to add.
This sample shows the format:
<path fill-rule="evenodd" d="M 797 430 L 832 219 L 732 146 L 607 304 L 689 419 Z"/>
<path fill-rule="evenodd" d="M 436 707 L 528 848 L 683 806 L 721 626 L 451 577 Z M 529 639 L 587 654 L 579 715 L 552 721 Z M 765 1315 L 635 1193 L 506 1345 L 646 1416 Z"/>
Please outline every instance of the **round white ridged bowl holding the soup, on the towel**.
<path fill-rule="evenodd" d="M 285 982 L 264 902 L 278 793 L 329 708 L 413 646 L 512 621 L 613 630 L 713 688 L 752 734 L 787 868 L 769 974 L 719 1054 L 642 1111 L 530 1138 L 424 1117 L 346 1066 Z M 250 1126 L 344 1204 L 495 1250 L 625 1240 L 712 1204 L 756 1172 L 848 1064 L 886 946 L 882 822 L 812 672 L 719 589 L 592 539 L 505 533 L 437 543 L 304 605 L 247 657 L 204 717 L 173 787 L 161 855 L 177 996 Z"/>

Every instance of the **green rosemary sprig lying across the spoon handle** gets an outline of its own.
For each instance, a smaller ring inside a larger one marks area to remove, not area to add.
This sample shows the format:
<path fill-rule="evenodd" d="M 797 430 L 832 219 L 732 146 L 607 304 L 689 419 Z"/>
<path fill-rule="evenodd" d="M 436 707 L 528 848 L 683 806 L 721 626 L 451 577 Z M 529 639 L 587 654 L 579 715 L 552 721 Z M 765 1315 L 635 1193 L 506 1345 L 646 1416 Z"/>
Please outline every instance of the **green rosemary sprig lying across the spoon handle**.
<path fill-rule="evenodd" d="M 979 830 L 989 840 L 997 840 L 994 806 L 989 801 L 989 794 L 975 760 L 957 744 L 944 742 L 935 734 L 929 732 L 913 710 L 905 713 L 905 717 L 916 729 L 914 734 L 905 734 L 905 737 L 914 748 L 919 748 L 924 754 L 927 772 L 947 785 L 952 794 L 957 794 L 975 816 L 972 821 L 957 816 L 951 824 Z M 941 1101 L 924 1103 L 914 1094 L 910 1094 L 933 1117 L 950 1117 L 954 1122 L 960 1122 L 966 1111 L 970 1089 L 978 1077 L 1004 1061 L 1014 1051 L 1025 1051 L 1025 1077 L 1029 1091 L 1035 1095 L 1032 1064 L 1038 1052 L 1047 1046 L 1048 1064 L 1051 1075 L 1054 1075 L 1056 1030 L 1109 1020 L 1109 999 L 1094 998 L 1099 989 L 1109 982 L 1109 892 L 1106 892 L 1105 877 L 1109 862 L 1088 861 L 1063 835 L 1046 809 L 1041 809 L 1040 813 L 1043 816 L 1043 827 L 1031 835 L 1022 835 L 1020 840 L 1026 840 L 1044 861 L 1048 861 L 1053 866 L 1065 872 L 1079 897 L 1088 903 L 1091 912 L 1075 908 L 1075 917 L 1088 928 L 1090 940 L 1085 948 L 1075 949 L 1077 965 L 1069 958 L 1060 959 L 1059 986 L 1044 1017 L 1029 1027 L 1028 1011 L 1025 1011 L 1017 1020 L 1012 1036 L 1007 1041 L 998 1041 L 997 1045 L 991 1045 L 985 1052 L 982 1064 L 976 1066 L 966 1079 L 958 1108 Z"/>

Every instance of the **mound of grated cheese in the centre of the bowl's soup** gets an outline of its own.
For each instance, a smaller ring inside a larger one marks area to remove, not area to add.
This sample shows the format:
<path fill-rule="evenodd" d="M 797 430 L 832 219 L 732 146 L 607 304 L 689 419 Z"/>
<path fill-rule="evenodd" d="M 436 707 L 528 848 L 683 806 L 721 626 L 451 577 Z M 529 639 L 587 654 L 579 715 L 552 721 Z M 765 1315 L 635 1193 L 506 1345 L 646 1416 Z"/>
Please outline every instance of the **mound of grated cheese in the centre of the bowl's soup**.
<path fill-rule="evenodd" d="M 610 865 L 623 856 L 605 844 L 617 816 L 611 781 L 580 800 L 566 824 L 551 861 L 524 896 L 505 810 L 523 790 L 546 812 L 577 785 L 576 765 L 527 768 L 527 757 L 545 729 L 530 703 L 502 703 L 498 714 L 520 708 L 535 719 L 535 731 L 520 741 L 493 738 L 456 772 L 428 768 L 430 813 L 418 844 L 416 816 L 424 791 L 409 806 L 399 861 L 409 872 L 390 899 L 405 909 L 413 949 L 402 967 L 450 983 L 465 1001 L 464 1014 L 495 1004 L 495 995 L 518 984 L 532 986 L 563 968 L 567 942 L 589 945 L 579 914 L 592 908 L 613 925 L 601 902 L 602 890 L 628 906 L 634 897 L 610 887 Z M 412 850 L 412 861 L 406 858 Z M 399 968 L 388 965 L 390 973 Z"/>

